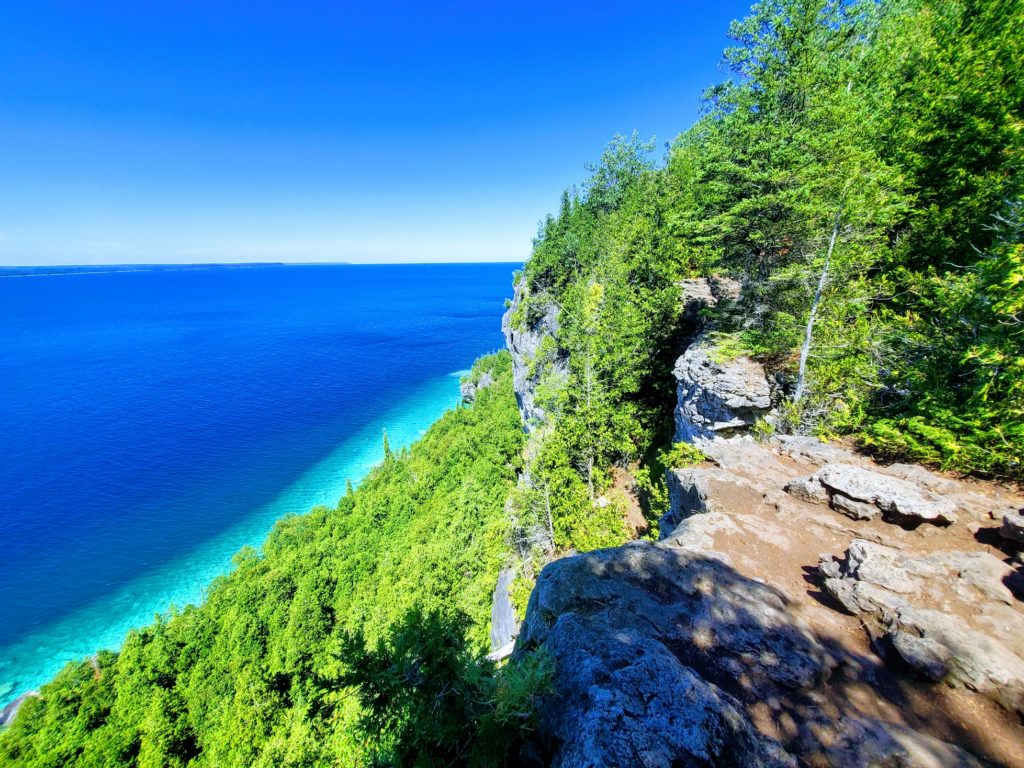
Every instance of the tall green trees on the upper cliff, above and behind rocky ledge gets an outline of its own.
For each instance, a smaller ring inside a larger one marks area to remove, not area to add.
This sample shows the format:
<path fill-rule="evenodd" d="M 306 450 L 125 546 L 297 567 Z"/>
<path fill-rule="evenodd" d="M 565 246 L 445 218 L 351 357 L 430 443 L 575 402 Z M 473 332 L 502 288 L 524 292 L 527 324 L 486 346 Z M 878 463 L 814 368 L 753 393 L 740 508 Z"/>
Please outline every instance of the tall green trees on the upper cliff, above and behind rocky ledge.
<path fill-rule="evenodd" d="M 611 467 L 668 443 L 697 275 L 742 286 L 709 319 L 784 393 L 764 431 L 1024 477 L 1024 4 L 782 0 L 730 37 L 664 162 L 616 137 L 525 266 L 513 325 L 560 318 L 532 463 L 558 546 L 593 538 Z"/>

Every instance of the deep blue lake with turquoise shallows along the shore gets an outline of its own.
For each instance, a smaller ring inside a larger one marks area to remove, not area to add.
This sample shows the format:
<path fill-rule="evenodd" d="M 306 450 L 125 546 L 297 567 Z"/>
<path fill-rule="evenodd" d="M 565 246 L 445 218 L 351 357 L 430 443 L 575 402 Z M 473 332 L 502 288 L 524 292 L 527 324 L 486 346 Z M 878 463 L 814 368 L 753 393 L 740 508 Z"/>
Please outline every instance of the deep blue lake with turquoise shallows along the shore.
<path fill-rule="evenodd" d="M 0 279 L 0 705 L 421 434 L 502 345 L 512 269 Z"/>

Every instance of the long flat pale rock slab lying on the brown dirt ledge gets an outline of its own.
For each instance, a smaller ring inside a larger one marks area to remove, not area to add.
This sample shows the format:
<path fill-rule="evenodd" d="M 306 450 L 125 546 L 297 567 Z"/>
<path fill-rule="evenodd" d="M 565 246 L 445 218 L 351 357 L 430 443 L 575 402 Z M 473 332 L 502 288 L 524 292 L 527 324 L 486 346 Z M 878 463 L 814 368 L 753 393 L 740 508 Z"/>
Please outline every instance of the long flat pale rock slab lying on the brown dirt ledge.
<path fill-rule="evenodd" d="M 793 480 L 785 489 L 803 501 L 828 504 L 854 519 L 883 515 L 890 522 L 909 525 L 956 521 L 956 505 L 949 499 L 851 464 L 826 464 L 812 475 Z"/>

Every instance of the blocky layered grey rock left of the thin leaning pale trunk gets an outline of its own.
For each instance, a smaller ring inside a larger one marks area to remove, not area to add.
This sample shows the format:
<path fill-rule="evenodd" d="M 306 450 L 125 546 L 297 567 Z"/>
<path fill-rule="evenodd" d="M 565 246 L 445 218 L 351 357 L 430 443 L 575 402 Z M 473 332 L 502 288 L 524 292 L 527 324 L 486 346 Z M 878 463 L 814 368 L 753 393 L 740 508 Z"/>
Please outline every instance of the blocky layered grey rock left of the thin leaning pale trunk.
<path fill-rule="evenodd" d="M 698 442 L 729 437 L 750 428 L 771 410 L 764 367 L 739 355 L 720 358 L 701 338 L 676 360 L 676 440 Z"/>

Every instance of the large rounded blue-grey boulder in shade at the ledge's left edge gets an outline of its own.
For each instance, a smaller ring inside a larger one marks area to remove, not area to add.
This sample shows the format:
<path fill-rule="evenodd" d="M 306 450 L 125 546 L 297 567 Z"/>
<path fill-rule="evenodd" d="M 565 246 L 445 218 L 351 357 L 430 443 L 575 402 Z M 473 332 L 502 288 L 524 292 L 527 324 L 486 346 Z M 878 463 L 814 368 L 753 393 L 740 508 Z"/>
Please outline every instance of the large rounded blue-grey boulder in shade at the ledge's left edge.
<path fill-rule="evenodd" d="M 777 672 L 796 686 L 826 675 L 826 653 L 788 626 L 774 593 L 727 575 L 718 561 L 641 543 L 544 569 L 517 652 L 543 645 L 555 663 L 540 733 L 551 765 L 796 766 L 722 684 L 736 687 L 752 642 L 801 658 L 763 669 L 759 685 Z M 715 585 L 722 612 L 725 600 L 738 609 L 731 621 L 716 621 Z"/>

